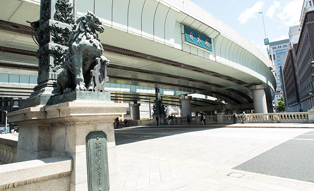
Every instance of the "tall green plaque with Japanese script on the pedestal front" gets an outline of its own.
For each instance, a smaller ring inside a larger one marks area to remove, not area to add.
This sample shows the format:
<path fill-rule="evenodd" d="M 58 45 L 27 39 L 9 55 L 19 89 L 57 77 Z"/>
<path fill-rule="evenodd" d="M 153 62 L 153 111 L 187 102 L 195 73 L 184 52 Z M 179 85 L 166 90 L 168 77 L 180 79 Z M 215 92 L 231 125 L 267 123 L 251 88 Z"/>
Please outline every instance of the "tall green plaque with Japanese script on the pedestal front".
<path fill-rule="evenodd" d="M 107 136 L 103 131 L 86 137 L 88 191 L 109 191 Z"/>

